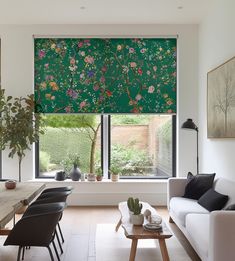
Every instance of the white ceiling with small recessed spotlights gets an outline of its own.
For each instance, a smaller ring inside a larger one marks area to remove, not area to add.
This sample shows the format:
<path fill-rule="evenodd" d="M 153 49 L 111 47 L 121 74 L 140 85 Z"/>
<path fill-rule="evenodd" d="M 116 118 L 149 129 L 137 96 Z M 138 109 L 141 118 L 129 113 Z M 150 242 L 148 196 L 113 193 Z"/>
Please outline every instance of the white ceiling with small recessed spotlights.
<path fill-rule="evenodd" d="M 0 0 L 0 24 L 198 24 L 213 0 Z"/>

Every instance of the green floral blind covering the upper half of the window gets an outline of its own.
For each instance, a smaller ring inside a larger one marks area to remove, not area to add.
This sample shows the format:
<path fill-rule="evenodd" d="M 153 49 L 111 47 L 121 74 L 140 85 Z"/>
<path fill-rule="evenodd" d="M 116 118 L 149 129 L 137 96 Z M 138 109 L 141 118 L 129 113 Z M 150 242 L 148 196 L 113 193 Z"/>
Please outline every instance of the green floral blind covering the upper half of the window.
<path fill-rule="evenodd" d="M 45 113 L 176 113 L 176 39 L 35 39 Z"/>

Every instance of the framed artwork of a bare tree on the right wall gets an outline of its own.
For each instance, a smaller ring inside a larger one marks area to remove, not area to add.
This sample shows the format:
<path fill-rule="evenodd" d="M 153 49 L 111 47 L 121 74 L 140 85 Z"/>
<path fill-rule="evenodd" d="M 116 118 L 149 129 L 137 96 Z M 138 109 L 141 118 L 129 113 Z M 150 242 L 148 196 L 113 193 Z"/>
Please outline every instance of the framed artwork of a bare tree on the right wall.
<path fill-rule="evenodd" d="M 235 57 L 207 74 L 207 136 L 235 138 Z"/>

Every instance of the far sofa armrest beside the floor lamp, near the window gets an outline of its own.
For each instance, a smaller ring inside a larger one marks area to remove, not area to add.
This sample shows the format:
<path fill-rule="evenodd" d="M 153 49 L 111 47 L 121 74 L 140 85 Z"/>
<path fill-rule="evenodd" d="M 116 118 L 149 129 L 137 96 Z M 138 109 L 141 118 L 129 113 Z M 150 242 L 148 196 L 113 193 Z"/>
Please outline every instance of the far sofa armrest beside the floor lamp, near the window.
<path fill-rule="evenodd" d="M 167 182 L 167 206 L 169 209 L 170 199 L 184 195 L 187 178 L 169 178 Z"/>

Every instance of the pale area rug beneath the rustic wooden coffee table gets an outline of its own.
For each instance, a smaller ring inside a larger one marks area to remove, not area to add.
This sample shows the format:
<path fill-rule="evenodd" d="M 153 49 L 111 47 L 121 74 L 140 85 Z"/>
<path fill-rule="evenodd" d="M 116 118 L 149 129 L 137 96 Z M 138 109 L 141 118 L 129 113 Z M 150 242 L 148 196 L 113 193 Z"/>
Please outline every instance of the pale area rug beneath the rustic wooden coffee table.
<path fill-rule="evenodd" d="M 184 248 L 175 236 L 166 239 L 171 261 L 191 261 Z M 96 261 L 128 261 L 131 240 L 124 235 L 120 227 L 115 232 L 115 224 L 98 224 L 96 228 Z M 135 261 L 162 260 L 157 240 L 144 239 L 138 241 Z"/>

